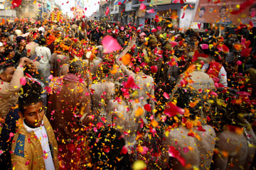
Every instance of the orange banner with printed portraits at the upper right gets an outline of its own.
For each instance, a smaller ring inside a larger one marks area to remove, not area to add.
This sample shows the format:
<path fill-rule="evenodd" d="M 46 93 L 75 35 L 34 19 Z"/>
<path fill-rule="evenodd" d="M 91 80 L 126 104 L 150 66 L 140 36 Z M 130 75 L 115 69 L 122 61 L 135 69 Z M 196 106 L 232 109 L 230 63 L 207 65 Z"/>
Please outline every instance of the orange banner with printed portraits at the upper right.
<path fill-rule="evenodd" d="M 199 0 L 194 22 L 238 25 L 240 22 L 249 23 L 252 21 L 254 26 L 256 26 L 256 3 L 252 4 L 252 6 L 247 6 L 242 13 L 236 15 L 230 13 L 232 10 L 238 10 L 237 6 L 243 2 L 245 2 L 245 0 L 229 0 L 218 3 L 213 1 L 209 2 L 208 0 Z"/>

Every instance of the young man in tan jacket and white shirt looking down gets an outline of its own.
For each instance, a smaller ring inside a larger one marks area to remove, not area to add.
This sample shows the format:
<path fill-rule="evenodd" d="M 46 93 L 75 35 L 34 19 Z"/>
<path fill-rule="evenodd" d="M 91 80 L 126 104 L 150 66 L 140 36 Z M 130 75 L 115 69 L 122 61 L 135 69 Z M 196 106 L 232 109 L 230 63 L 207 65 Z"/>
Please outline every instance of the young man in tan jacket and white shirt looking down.
<path fill-rule="evenodd" d="M 23 94 L 18 98 L 18 132 L 11 145 L 13 169 L 59 168 L 58 145 L 53 128 L 44 115 L 41 92 L 36 82 L 29 81 L 23 86 Z"/>

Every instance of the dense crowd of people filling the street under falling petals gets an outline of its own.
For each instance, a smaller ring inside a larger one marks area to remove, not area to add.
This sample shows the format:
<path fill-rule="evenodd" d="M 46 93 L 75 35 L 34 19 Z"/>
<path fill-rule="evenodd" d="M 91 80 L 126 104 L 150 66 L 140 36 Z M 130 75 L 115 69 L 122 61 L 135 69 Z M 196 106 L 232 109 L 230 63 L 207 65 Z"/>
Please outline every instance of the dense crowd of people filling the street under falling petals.
<path fill-rule="evenodd" d="M 252 28 L 6 22 L 1 169 L 255 169 Z"/>

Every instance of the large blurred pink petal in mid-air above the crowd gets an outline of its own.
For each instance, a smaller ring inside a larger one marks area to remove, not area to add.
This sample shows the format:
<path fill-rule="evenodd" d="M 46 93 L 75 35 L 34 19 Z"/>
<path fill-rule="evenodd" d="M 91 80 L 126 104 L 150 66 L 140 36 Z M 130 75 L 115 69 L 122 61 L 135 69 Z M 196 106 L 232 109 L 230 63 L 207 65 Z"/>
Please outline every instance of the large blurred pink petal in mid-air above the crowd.
<path fill-rule="evenodd" d="M 112 38 L 110 35 L 107 35 L 102 39 L 102 45 L 104 53 L 110 53 L 122 49 L 122 47 L 117 42 L 117 39 Z"/>

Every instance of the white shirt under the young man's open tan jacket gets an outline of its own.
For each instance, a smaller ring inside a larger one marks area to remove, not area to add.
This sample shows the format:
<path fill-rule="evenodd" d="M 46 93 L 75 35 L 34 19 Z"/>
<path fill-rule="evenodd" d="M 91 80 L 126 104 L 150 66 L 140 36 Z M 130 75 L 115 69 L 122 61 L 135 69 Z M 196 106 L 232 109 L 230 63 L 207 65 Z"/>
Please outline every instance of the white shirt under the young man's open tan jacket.
<path fill-rule="evenodd" d="M 53 164 L 53 157 L 50 153 L 50 147 L 49 147 L 49 141 L 48 141 L 48 135 L 46 132 L 46 127 L 42 125 L 38 128 L 29 128 L 28 125 L 23 120 L 23 125 L 27 132 L 35 132 L 36 137 L 40 140 L 41 147 L 43 149 L 43 156 L 44 156 L 44 162 L 46 165 L 46 170 L 55 170 L 54 164 Z"/>

